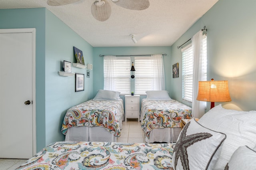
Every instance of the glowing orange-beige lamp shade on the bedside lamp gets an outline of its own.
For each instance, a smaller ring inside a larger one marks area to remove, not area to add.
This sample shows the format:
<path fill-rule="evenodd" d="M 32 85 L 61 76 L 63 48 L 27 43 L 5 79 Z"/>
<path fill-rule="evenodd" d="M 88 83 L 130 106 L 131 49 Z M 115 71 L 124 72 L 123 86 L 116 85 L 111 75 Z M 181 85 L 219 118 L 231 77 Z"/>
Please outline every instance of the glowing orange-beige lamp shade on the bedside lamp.
<path fill-rule="evenodd" d="M 231 101 L 228 91 L 228 81 L 198 81 L 199 101 L 226 102 Z"/>

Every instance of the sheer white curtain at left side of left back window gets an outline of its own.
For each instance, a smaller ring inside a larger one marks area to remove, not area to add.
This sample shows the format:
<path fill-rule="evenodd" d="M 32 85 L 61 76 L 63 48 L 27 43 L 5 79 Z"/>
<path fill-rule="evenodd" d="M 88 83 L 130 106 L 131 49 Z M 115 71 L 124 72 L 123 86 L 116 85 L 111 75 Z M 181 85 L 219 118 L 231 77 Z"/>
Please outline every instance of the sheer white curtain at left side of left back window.
<path fill-rule="evenodd" d="M 115 55 L 104 56 L 104 90 L 116 90 L 114 59 L 116 59 Z"/>

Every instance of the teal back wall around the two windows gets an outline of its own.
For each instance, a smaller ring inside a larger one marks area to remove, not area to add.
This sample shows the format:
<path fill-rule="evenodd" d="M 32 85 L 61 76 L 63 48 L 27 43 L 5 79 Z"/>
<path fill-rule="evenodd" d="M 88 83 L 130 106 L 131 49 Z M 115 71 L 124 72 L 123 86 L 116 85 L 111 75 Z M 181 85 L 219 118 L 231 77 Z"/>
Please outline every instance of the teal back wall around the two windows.
<path fill-rule="evenodd" d="M 96 95 L 99 89 L 103 89 L 104 87 L 104 72 L 103 72 L 103 58 L 99 57 L 99 55 L 147 55 L 147 54 L 167 54 L 163 57 L 164 60 L 164 71 L 165 71 L 165 79 L 166 79 L 166 90 L 170 91 L 170 81 L 172 76 L 170 73 L 172 71 L 171 61 L 171 50 L 170 47 L 94 47 L 94 63 L 97 63 L 94 66 L 94 95 Z M 131 56 L 131 61 L 134 61 L 134 57 Z M 136 69 L 136 64 L 134 65 Z M 134 75 L 136 76 L 136 71 L 134 71 Z M 131 79 L 131 84 L 134 82 L 134 79 Z M 134 87 L 131 87 L 131 91 L 134 91 Z M 124 97 L 121 96 L 124 100 Z M 141 96 L 140 100 L 145 98 L 145 96 Z"/>

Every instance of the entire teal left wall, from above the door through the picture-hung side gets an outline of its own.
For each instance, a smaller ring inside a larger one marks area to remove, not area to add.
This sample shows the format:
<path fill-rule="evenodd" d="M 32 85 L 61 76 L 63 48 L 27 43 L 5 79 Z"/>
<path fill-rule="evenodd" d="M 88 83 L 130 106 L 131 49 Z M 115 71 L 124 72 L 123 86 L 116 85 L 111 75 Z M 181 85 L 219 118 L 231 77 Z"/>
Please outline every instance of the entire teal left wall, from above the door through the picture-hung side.
<path fill-rule="evenodd" d="M 84 91 L 75 92 L 75 76 L 64 77 L 63 60 L 75 62 L 73 46 L 81 49 L 85 63 L 93 62 L 93 47 L 46 8 L 0 10 L 0 28 L 36 28 L 36 146 L 64 140 L 60 132 L 69 107 L 93 97 L 93 70 L 72 67 L 85 74 Z"/>

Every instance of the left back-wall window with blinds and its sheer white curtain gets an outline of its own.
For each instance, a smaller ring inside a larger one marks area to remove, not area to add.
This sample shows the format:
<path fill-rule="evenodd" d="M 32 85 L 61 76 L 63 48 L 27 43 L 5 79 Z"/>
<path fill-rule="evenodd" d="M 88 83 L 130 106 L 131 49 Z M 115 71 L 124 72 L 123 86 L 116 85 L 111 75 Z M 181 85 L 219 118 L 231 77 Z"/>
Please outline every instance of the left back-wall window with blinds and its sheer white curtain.
<path fill-rule="evenodd" d="M 130 94 L 130 57 L 104 57 L 104 90 Z"/>

